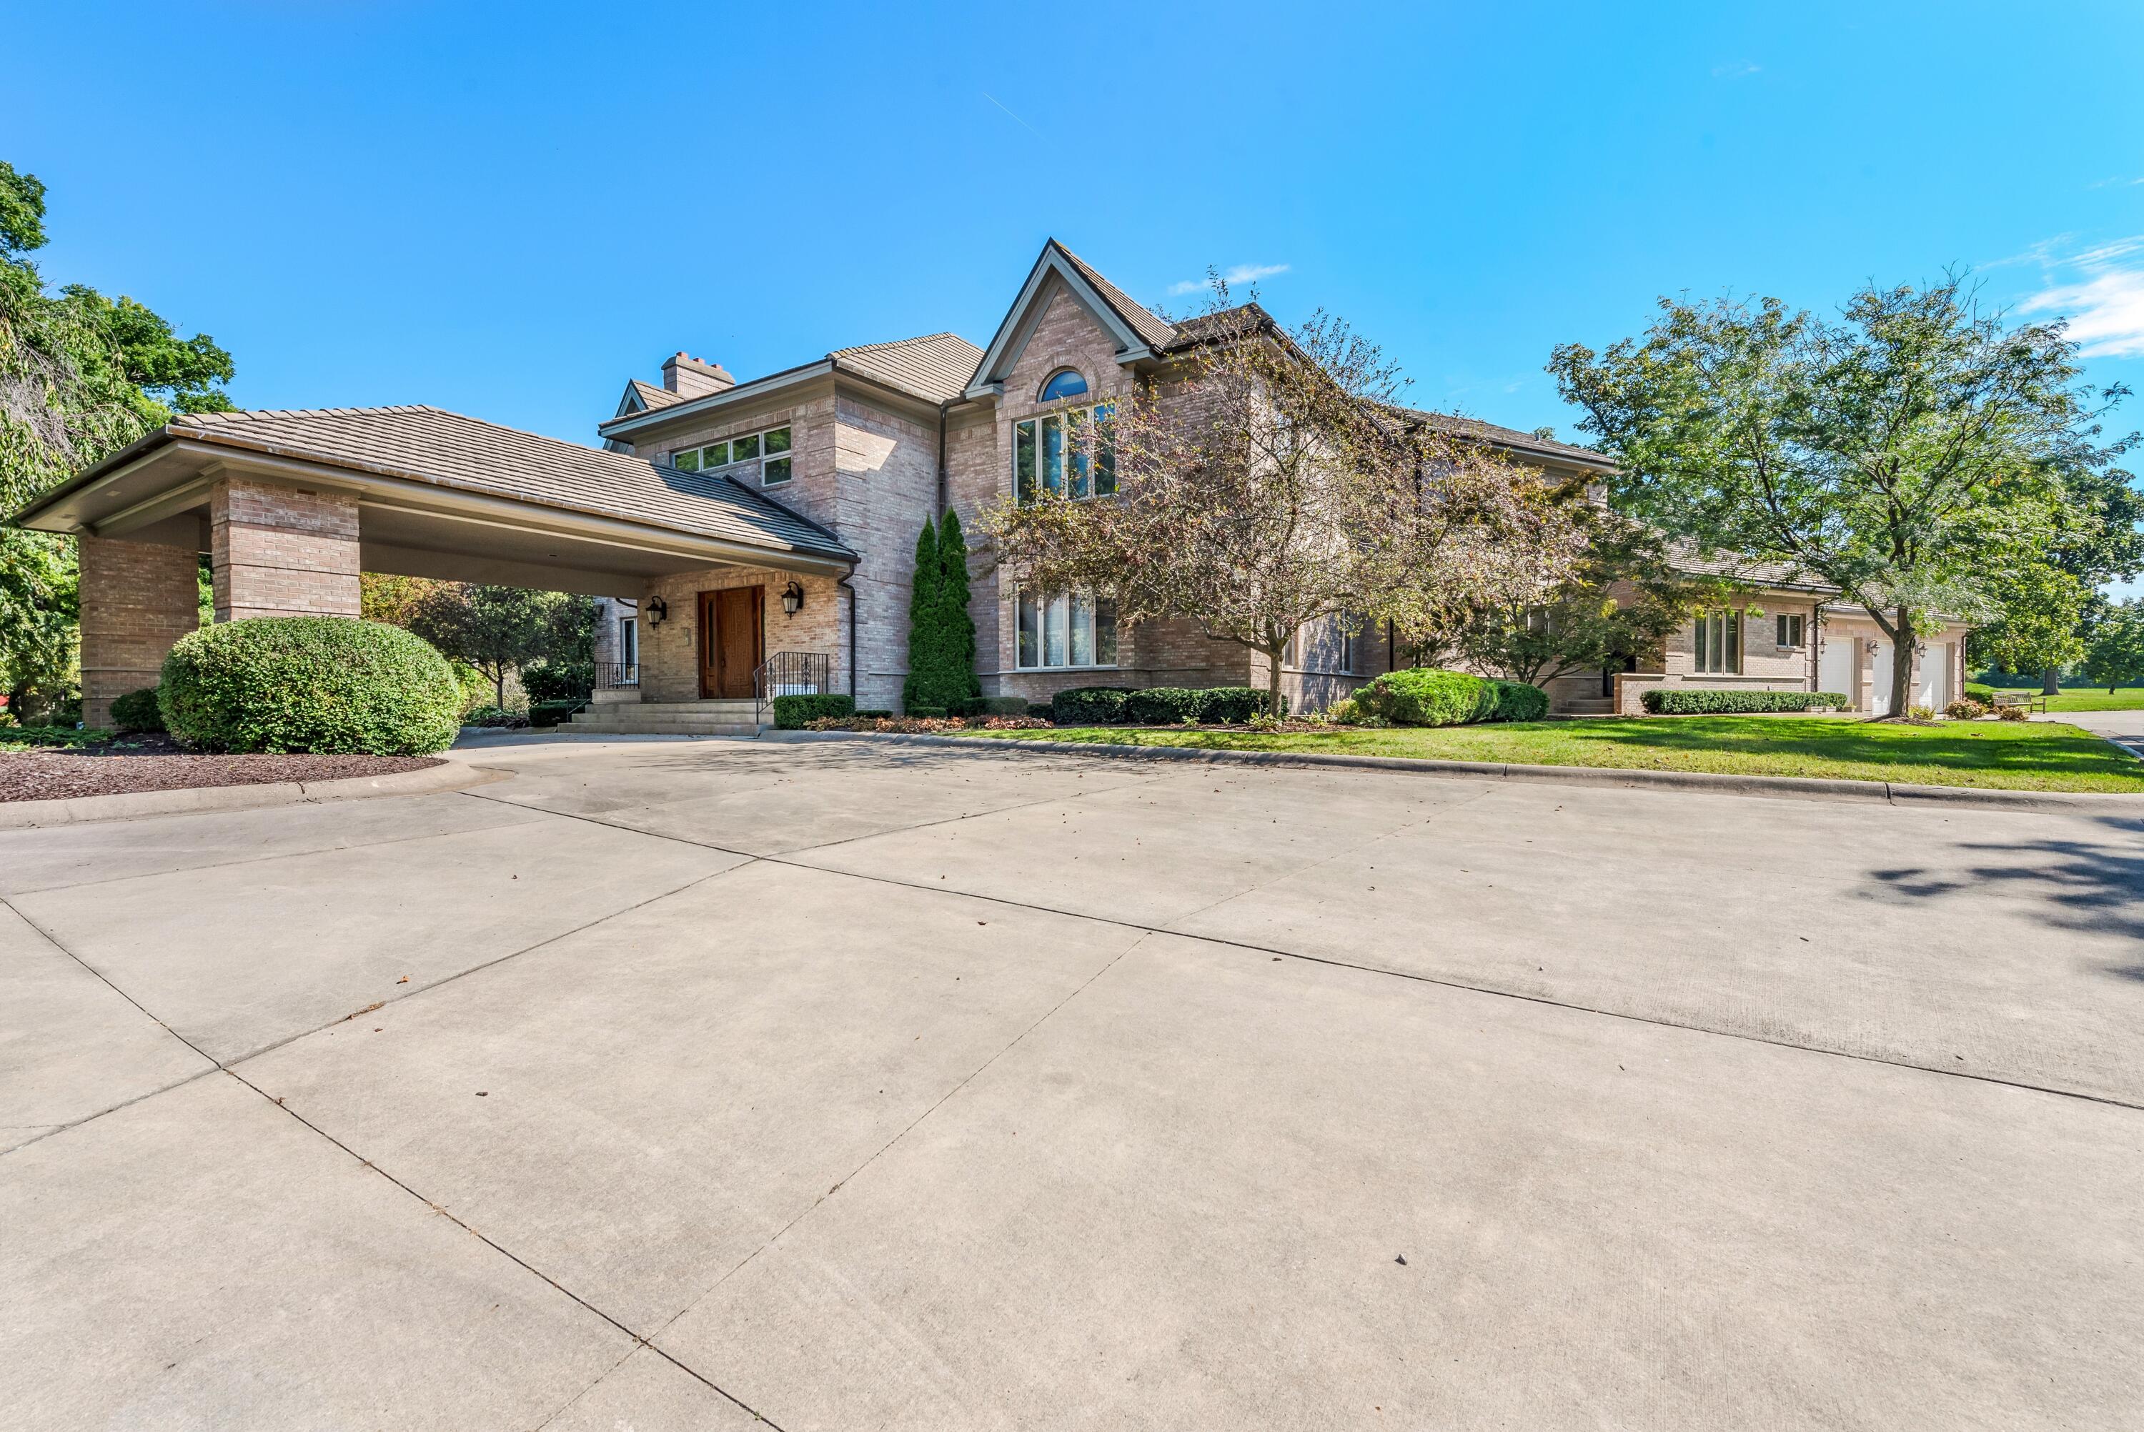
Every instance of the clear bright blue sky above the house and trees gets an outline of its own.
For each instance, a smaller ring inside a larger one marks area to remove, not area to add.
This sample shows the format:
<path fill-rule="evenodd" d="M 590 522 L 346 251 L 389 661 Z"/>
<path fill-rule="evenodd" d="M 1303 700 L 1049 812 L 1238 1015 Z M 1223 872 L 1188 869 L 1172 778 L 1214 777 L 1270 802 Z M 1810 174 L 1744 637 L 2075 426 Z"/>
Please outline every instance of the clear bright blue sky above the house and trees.
<path fill-rule="evenodd" d="M 73 2 L 9 21 L 0 156 L 47 277 L 212 332 L 249 407 L 590 439 L 680 347 L 988 341 L 1055 234 L 1158 304 L 1267 270 L 1413 401 L 1569 435 L 1550 347 L 1659 294 L 1949 264 L 2144 388 L 2140 54 L 2133 2 Z"/>

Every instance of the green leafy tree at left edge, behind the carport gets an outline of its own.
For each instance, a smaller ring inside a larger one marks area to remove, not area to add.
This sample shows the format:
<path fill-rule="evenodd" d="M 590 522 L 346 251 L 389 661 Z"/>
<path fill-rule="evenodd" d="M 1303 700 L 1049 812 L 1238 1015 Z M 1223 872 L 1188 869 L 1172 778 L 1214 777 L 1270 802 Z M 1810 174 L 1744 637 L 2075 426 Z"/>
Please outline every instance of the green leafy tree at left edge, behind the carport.
<path fill-rule="evenodd" d="M 131 298 L 81 285 L 58 294 L 30 253 L 45 244 L 45 184 L 0 161 L 0 514 L 116 452 L 174 412 L 227 409 L 232 356 L 180 339 Z M 17 707 L 73 684 L 75 545 L 0 529 L 0 688 Z"/>

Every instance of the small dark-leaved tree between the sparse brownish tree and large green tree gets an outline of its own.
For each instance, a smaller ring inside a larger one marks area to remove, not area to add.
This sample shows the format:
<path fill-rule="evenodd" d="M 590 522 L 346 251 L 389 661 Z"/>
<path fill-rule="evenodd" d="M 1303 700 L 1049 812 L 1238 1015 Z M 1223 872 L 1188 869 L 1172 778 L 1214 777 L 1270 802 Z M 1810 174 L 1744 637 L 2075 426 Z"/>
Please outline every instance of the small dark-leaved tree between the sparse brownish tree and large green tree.
<path fill-rule="evenodd" d="M 1606 508 L 1580 512 L 1587 547 L 1572 579 L 1546 602 L 1475 609 L 1451 641 L 1466 662 L 1529 686 L 1623 669 L 1724 596 L 1722 583 L 1677 570 L 1657 532 Z"/>

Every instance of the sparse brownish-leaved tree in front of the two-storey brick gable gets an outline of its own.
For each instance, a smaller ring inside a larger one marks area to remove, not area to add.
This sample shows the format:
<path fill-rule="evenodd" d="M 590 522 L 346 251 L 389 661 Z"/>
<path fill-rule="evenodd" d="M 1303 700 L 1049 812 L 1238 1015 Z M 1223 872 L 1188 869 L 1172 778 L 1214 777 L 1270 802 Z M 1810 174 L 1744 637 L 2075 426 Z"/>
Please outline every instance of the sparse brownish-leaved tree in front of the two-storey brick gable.
<path fill-rule="evenodd" d="M 1344 322 L 1282 332 L 1216 279 L 1183 332 L 1198 345 L 1181 364 L 1081 437 L 1074 459 L 1108 463 L 1113 497 L 1036 491 L 993 508 L 1014 579 L 1259 652 L 1278 712 L 1282 652 L 1304 626 L 1443 639 L 1482 605 L 1544 600 L 1576 560 L 1569 504 L 1400 407 L 1396 369 Z"/>

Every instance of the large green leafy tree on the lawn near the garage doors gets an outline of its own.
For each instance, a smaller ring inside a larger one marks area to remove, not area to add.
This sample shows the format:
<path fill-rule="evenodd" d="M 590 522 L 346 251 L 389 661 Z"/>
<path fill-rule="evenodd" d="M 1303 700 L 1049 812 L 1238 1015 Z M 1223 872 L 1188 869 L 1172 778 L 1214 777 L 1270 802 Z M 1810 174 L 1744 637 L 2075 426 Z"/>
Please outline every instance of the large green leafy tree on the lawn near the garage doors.
<path fill-rule="evenodd" d="M 1775 298 L 1659 307 L 1642 341 L 1550 360 L 1617 459 L 1614 506 L 1867 607 L 1895 650 L 1893 712 L 1917 626 L 1987 611 L 1990 587 L 2058 536 L 2063 476 L 2127 448 L 2097 446 L 2125 390 L 2078 384 L 2063 326 L 2011 328 L 1957 277 L 1867 287 L 1837 322 Z"/>

